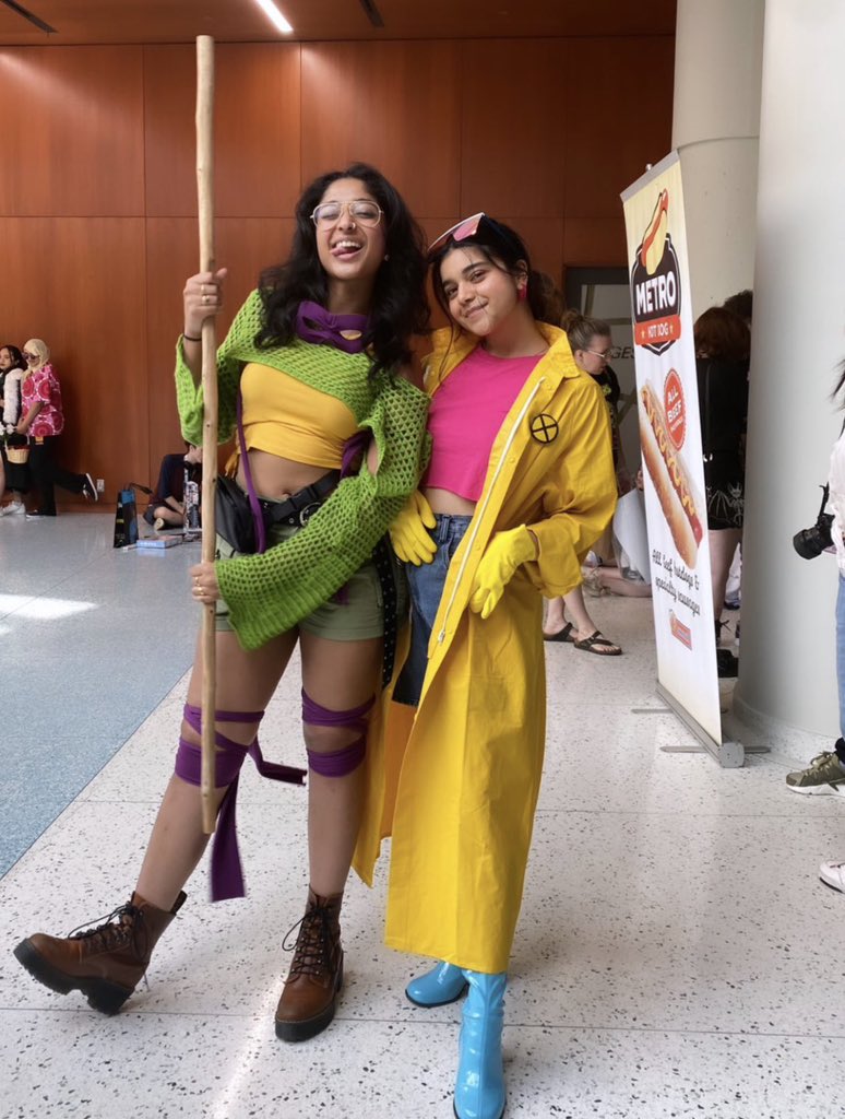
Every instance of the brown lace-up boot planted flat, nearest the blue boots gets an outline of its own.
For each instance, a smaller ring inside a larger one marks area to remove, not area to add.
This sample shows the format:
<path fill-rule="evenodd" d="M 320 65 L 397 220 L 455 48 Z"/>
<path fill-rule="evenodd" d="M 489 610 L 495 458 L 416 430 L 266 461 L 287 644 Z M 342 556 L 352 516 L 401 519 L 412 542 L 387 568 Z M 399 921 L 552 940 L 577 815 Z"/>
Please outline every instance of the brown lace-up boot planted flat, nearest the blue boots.
<path fill-rule="evenodd" d="M 287 940 L 298 925 L 291 970 L 276 1007 L 276 1037 L 283 1041 L 304 1042 L 325 1029 L 334 1017 L 343 984 L 342 901 L 343 894 L 320 897 L 308 890 L 305 916 L 283 941 L 288 951 Z"/>

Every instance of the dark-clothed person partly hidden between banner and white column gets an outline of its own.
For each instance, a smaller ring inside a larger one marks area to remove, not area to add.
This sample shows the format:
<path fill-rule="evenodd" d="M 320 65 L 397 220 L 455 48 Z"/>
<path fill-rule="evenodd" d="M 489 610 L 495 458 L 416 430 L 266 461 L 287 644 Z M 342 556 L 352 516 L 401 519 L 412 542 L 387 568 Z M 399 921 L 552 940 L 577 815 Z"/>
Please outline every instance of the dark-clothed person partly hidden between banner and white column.
<path fill-rule="evenodd" d="M 730 649 L 719 648 L 719 640 L 728 573 L 742 540 L 751 336 L 738 314 L 723 307 L 711 307 L 695 320 L 693 338 L 704 455 L 716 668 L 721 677 L 733 677 L 738 659 Z"/>

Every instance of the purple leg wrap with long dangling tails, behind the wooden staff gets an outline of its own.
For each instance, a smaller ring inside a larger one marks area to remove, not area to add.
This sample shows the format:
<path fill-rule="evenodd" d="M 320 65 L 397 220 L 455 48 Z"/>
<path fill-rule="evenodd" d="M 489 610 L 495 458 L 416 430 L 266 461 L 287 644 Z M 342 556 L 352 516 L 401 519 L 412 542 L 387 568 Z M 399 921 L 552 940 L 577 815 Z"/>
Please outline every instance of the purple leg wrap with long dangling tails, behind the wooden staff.
<path fill-rule="evenodd" d="M 215 722 L 217 723 L 260 723 L 264 716 L 263 711 L 216 711 Z M 184 705 L 184 721 L 197 734 L 202 734 L 202 712 L 192 704 Z M 238 774 L 240 767 L 247 754 L 255 762 L 255 768 L 262 777 L 269 778 L 270 781 L 287 781 L 291 784 L 302 784 L 305 780 L 305 771 L 294 769 L 291 765 L 279 765 L 276 762 L 265 761 L 260 746 L 258 745 L 258 734 L 248 746 L 239 742 L 232 742 L 215 732 L 215 744 L 217 753 L 215 755 L 215 786 L 218 789 L 228 786 L 218 812 L 217 831 L 211 848 L 211 901 L 225 901 L 227 897 L 243 897 L 246 893 L 244 888 L 244 872 L 240 866 L 240 854 L 238 853 L 238 836 L 236 831 L 236 805 L 238 796 Z M 193 742 L 184 737 L 179 739 L 179 751 L 175 760 L 177 777 L 189 784 L 201 783 L 202 751 Z"/>

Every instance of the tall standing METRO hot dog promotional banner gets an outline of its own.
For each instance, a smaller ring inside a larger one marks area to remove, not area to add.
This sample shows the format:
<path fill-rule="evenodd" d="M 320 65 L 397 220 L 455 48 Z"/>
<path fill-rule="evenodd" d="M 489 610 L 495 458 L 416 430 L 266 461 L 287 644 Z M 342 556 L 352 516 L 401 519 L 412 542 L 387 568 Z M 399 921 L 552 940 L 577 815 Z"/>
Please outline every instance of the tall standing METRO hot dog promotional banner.
<path fill-rule="evenodd" d="M 690 269 L 676 152 L 623 194 L 657 678 L 722 742 Z"/>

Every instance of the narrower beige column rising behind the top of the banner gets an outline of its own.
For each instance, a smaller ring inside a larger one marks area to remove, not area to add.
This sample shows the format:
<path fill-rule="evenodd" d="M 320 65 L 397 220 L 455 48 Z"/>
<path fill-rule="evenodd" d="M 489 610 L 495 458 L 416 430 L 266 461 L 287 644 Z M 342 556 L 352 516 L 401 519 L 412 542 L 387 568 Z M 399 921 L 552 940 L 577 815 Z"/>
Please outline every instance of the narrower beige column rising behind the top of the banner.
<path fill-rule="evenodd" d="M 678 0 L 672 147 L 681 156 L 693 318 L 750 288 L 763 0 Z"/>

